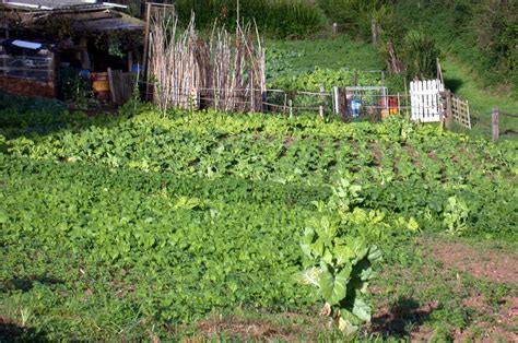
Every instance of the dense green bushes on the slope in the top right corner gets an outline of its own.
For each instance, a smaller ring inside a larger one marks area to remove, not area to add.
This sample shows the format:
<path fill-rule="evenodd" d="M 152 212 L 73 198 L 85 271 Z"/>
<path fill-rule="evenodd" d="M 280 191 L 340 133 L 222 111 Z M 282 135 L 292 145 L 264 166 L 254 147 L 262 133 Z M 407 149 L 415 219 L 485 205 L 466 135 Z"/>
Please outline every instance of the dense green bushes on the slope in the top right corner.
<path fill-rule="evenodd" d="M 401 26 L 419 27 L 467 63 L 485 85 L 507 84 L 518 95 L 517 1 L 413 0 L 395 5 Z"/>

